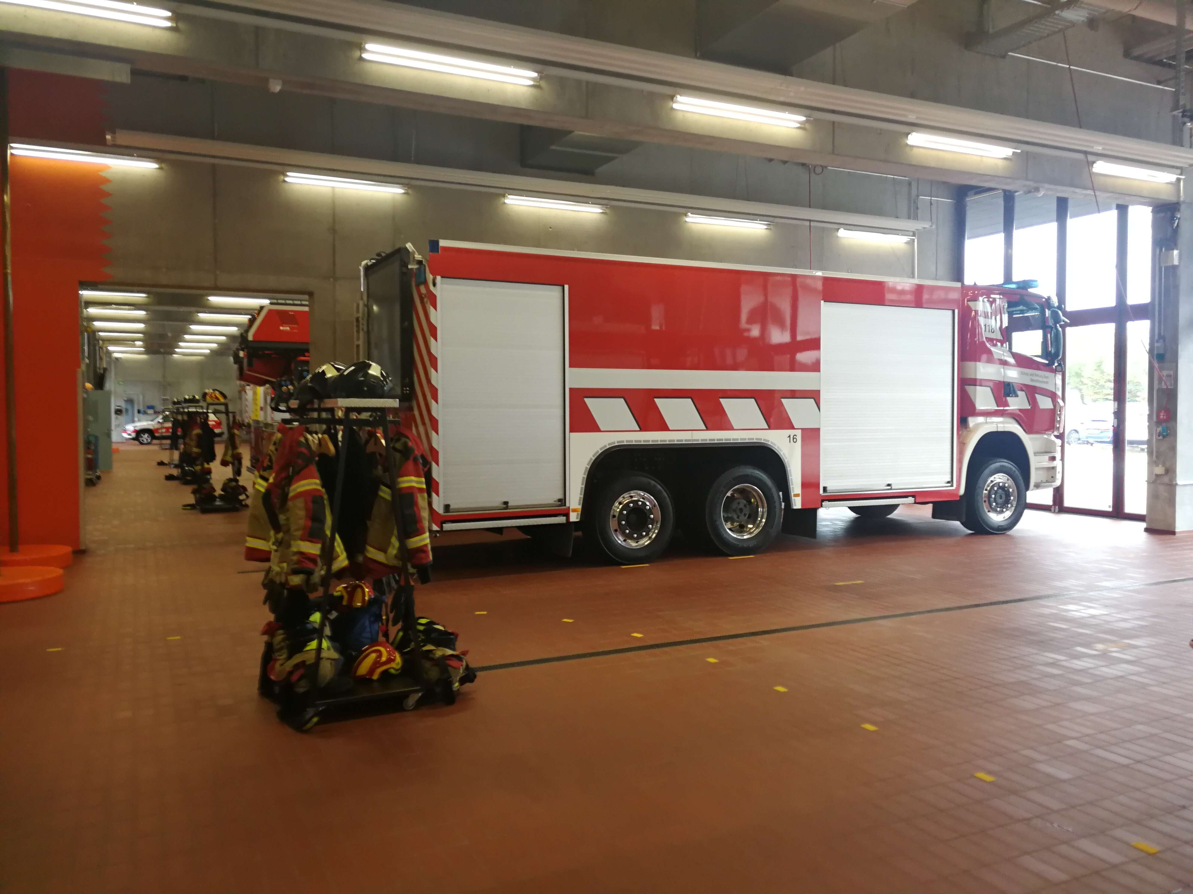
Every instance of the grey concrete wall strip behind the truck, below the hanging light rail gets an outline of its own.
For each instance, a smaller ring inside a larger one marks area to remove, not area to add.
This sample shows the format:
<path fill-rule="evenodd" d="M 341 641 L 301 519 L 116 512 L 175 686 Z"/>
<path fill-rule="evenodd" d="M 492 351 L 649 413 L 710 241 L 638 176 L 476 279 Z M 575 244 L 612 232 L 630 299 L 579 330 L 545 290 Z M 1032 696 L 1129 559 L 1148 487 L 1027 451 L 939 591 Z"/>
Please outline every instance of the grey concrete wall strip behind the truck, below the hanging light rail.
<path fill-rule="evenodd" d="M 773 167 L 790 198 L 806 194 L 799 192 L 806 190 L 805 169 Z M 804 170 L 802 187 L 796 170 Z M 285 184 L 278 170 L 199 162 L 120 168 L 110 176 L 113 281 L 309 293 L 314 362 L 351 359 L 359 265 L 408 241 L 421 250 L 427 240 L 443 238 L 891 277 L 914 271 L 908 246 L 847 242 L 835 230 L 806 224 L 729 230 L 688 224 L 673 211 L 613 207 L 596 216 L 517 207 L 500 193 L 470 190 L 333 191 Z M 814 200 L 829 207 L 870 213 L 902 207 L 903 216 L 910 209 L 931 217 L 938 226 L 921 237 L 919 274 L 948 279 L 953 206 L 920 200 L 929 187 L 840 172 L 812 175 Z"/>

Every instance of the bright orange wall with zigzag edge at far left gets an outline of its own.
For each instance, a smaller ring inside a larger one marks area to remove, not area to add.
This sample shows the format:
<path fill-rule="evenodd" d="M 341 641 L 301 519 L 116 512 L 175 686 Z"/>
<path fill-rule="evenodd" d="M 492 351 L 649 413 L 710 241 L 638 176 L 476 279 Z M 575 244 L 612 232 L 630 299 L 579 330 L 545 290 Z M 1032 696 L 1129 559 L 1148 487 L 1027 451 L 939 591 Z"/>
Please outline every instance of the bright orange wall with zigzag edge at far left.
<path fill-rule="evenodd" d="M 105 142 L 98 81 L 10 69 L 8 110 L 13 142 Z M 107 278 L 104 170 L 12 160 L 18 523 L 25 544 L 80 545 L 79 283 Z M 0 510 L 6 545 L 5 484 Z"/>

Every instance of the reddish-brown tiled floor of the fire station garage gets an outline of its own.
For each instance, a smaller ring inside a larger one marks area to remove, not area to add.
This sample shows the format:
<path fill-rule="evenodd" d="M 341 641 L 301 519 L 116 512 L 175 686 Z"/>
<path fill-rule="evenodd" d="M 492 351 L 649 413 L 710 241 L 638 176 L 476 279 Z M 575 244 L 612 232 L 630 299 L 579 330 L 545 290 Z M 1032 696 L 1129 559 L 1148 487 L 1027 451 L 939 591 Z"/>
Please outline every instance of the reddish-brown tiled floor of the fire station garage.
<path fill-rule="evenodd" d="M 88 490 L 67 592 L 0 606 L 6 894 L 1193 892 L 1193 538 L 834 513 L 618 569 L 472 535 L 420 607 L 480 665 L 801 629 L 298 735 L 254 691 L 243 516 L 179 510 L 159 457 Z"/>

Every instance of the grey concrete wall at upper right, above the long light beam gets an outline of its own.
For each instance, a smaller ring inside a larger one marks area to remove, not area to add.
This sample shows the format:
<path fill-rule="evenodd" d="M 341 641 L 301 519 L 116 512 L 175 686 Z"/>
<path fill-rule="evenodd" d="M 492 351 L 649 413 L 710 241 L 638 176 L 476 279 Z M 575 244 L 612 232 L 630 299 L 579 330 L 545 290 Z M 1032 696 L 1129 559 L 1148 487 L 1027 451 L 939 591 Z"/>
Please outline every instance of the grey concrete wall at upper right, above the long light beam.
<path fill-rule="evenodd" d="M 1014 0 L 997 4 L 996 24 L 1033 8 Z M 1170 142 L 1173 94 L 1022 58 L 997 58 L 965 49 L 978 29 L 978 4 L 970 0 L 919 0 L 879 25 L 846 38 L 799 63 L 792 74 L 816 81 L 898 97 L 1068 124 L 1141 139 Z M 1098 72 L 1155 82 L 1163 69 L 1123 57 L 1124 17 L 1100 27 L 1073 27 L 1022 54 Z M 1068 44 L 1068 46 L 1065 45 Z M 1076 101 L 1074 99 L 1076 87 Z"/>

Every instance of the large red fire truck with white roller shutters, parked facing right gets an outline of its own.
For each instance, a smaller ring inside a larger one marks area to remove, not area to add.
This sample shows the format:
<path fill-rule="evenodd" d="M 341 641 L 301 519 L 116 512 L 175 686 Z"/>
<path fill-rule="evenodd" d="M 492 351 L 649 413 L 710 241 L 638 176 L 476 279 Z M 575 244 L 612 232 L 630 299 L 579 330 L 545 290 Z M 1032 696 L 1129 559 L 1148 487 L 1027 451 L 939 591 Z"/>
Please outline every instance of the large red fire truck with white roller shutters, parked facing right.
<path fill-rule="evenodd" d="M 820 508 L 975 533 L 1061 482 L 1056 302 L 1026 286 L 432 241 L 361 266 L 366 344 L 432 459 L 435 530 L 644 563 Z"/>

